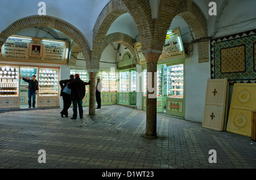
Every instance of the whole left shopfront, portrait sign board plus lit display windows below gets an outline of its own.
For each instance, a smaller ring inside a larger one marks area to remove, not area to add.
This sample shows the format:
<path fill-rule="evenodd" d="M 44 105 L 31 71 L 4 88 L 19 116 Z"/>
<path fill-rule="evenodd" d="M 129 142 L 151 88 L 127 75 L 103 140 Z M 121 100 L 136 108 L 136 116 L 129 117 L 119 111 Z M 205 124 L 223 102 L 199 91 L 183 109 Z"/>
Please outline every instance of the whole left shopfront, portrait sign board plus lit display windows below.
<path fill-rule="evenodd" d="M 60 106 L 60 65 L 67 64 L 67 41 L 11 36 L 0 56 L 0 108 L 23 108 L 28 104 L 28 83 L 19 78 L 36 76 L 37 107 Z M 31 65 L 34 64 L 34 65 Z"/>

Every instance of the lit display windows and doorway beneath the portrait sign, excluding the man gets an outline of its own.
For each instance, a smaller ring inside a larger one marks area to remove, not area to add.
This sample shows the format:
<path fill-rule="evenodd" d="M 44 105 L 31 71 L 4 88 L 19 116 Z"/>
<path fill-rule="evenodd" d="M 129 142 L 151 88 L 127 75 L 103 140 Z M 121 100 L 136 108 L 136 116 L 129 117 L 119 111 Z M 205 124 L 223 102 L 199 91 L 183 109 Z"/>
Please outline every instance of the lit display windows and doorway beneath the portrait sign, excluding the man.
<path fill-rule="evenodd" d="M 0 65 L 0 108 L 27 107 L 28 83 L 19 78 L 19 74 L 31 79 L 36 75 L 39 81 L 39 93 L 36 95 L 37 107 L 59 106 L 59 67 L 24 65 Z M 24 105 L 24 106 L 23 106 Z"/>

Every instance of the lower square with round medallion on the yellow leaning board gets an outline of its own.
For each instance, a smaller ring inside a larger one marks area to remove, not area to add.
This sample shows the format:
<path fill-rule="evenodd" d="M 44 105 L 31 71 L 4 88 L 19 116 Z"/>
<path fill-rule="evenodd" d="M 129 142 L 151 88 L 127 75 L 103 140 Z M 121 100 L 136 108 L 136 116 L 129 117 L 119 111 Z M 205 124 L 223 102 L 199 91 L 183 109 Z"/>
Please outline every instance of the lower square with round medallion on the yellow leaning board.
<path fill-rule="evenodd" d="M 252 111 L 245 111 L 233 108 L 229 112 L 228 126 L 226 131 L 251 137 Z"/>

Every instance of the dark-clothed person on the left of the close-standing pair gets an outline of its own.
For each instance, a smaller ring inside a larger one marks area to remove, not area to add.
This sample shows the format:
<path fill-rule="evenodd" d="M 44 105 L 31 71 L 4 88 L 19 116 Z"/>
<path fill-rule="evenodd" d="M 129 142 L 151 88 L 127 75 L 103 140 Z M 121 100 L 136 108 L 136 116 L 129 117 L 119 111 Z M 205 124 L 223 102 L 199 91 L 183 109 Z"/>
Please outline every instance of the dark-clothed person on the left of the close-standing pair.
<path fill-rule="evenodd" d="M 70 79 L 61 80 L 60 87 L 60 96 L 63 98 L 63 110 L 60 112 L 61 117 L 63 118 L 63 115 L 65 115 L 66 118 L 68 118 L 68 109 L 71 106 L 71 93 L 68 93 L 67 91 L 63 91 L 65 88 L 67 88 L 67 83 L 74 80 L 74 75 L 69 76 Z"/>

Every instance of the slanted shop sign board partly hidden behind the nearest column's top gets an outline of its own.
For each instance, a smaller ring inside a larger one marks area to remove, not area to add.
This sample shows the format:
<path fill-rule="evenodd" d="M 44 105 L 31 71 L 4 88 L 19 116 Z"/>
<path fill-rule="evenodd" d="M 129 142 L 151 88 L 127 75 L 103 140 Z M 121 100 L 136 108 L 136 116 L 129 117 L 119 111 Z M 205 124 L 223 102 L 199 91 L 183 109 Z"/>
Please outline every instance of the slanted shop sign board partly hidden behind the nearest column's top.
<path fill-rule="evenodd" d="M 146 58 L 142 53 L 141 43 L 135 43 L 134 48 L 138 54 L 139 64 L 146 64 Z M 185 52 L 181 40 L 180 28 L 175 28 L 174 30 L 168 31 L 168 34 L 166 35 L 166 42 L 163 46 L 162 55 L 159 57 L 158 62 L 177 60 L 181 58 L 185 58 Z"/>

